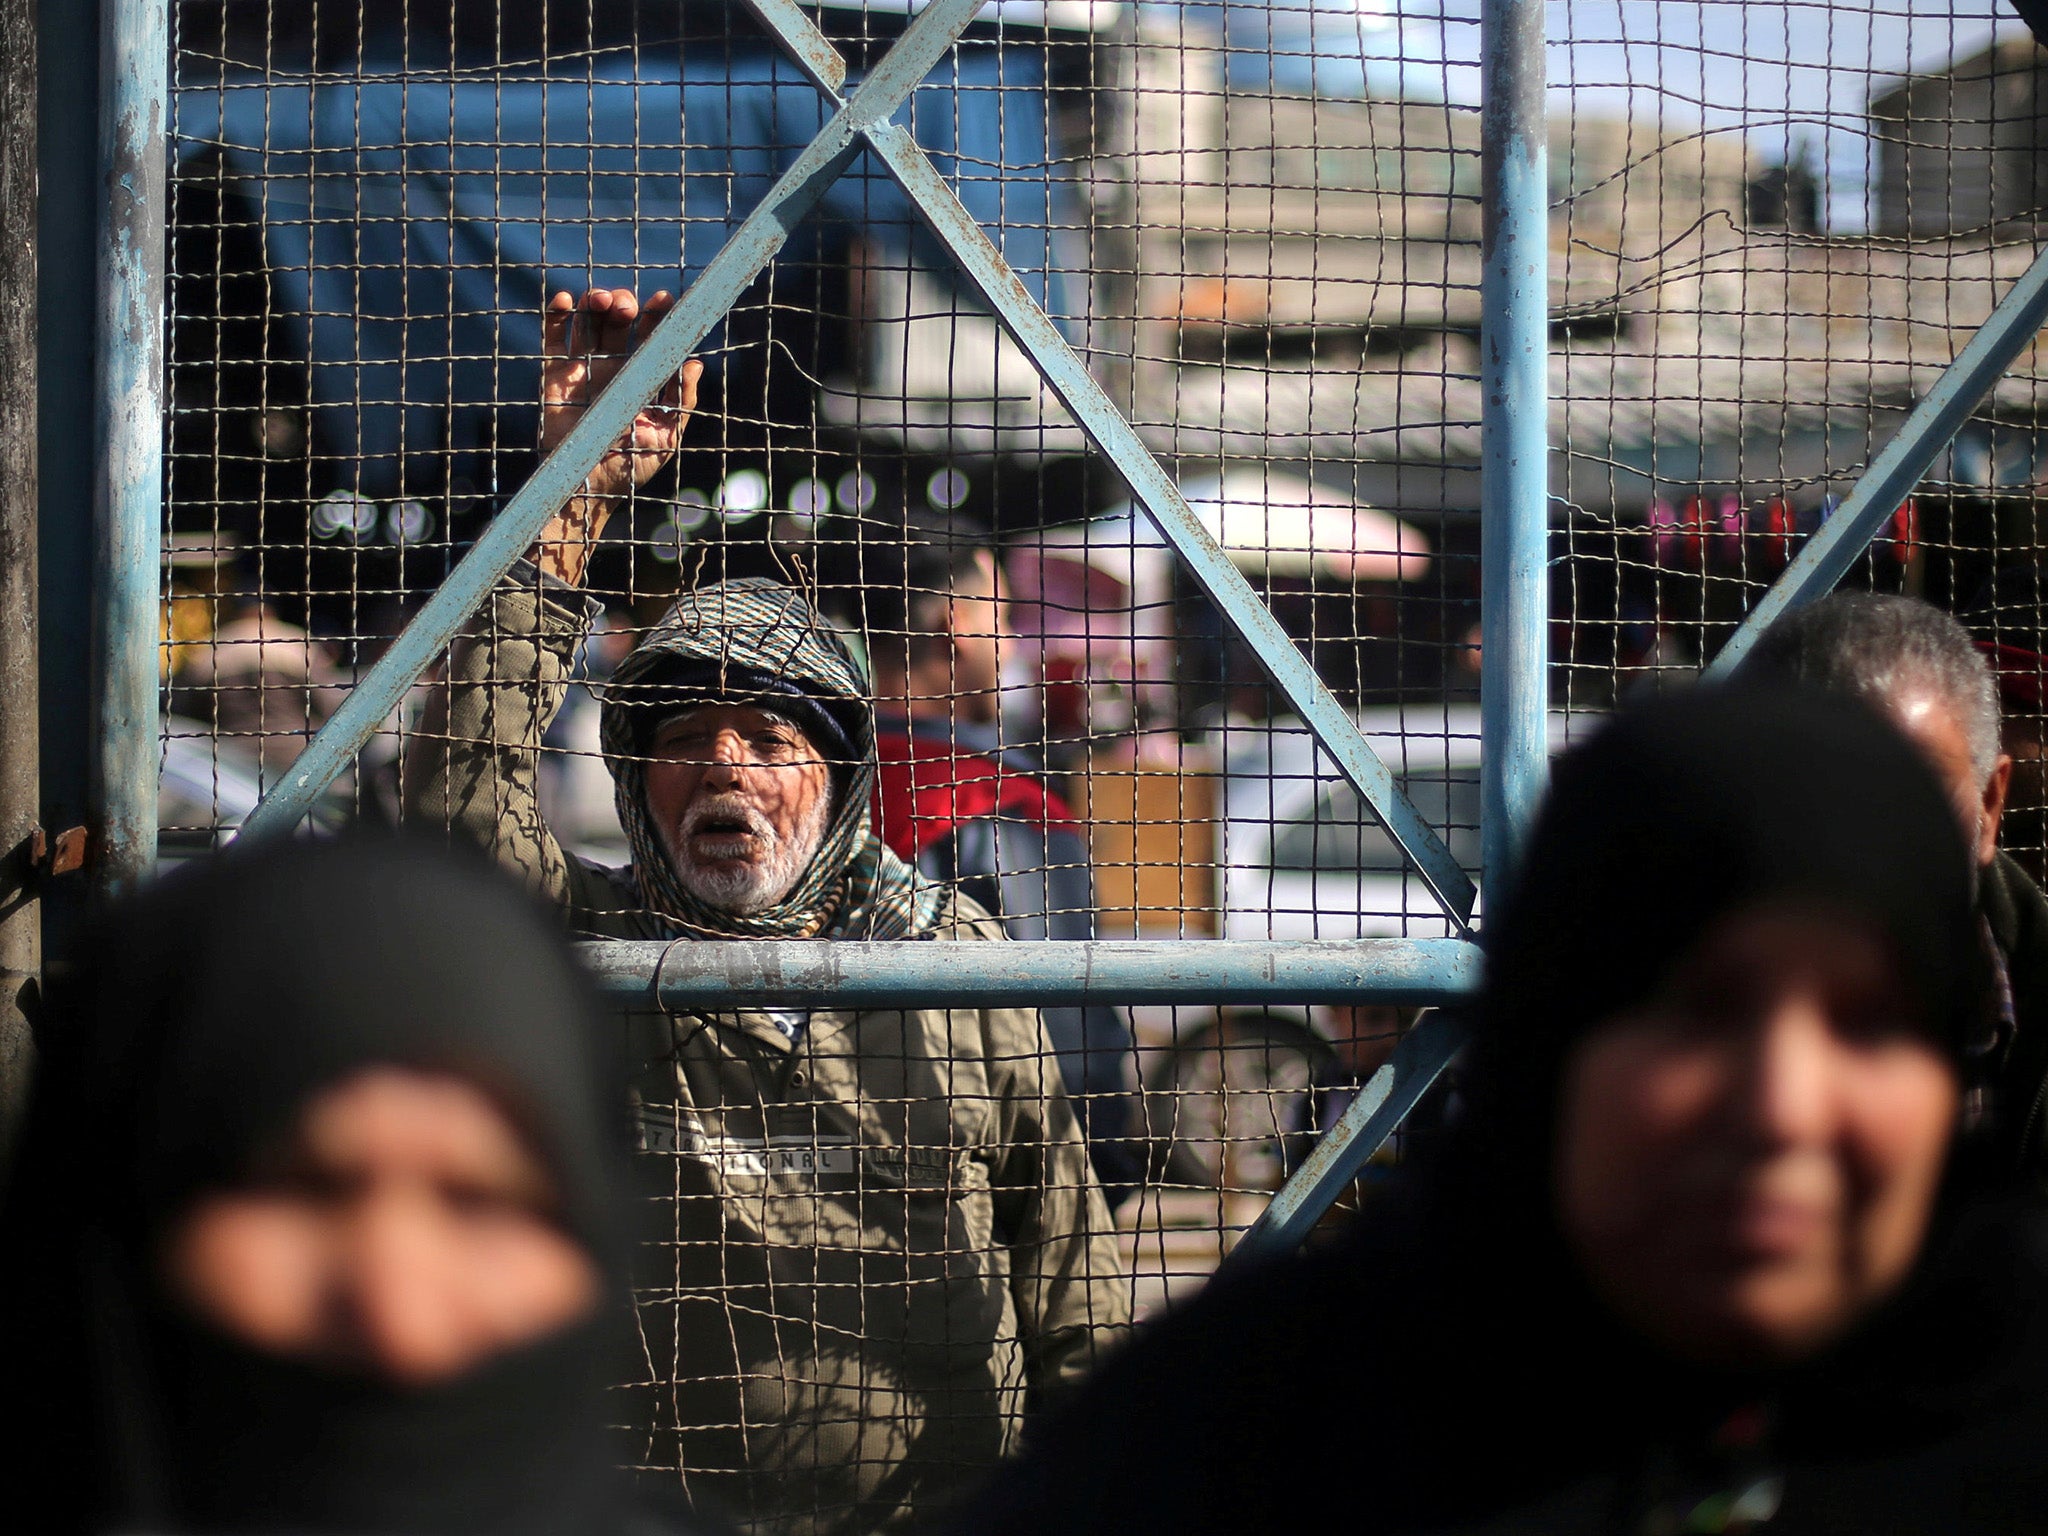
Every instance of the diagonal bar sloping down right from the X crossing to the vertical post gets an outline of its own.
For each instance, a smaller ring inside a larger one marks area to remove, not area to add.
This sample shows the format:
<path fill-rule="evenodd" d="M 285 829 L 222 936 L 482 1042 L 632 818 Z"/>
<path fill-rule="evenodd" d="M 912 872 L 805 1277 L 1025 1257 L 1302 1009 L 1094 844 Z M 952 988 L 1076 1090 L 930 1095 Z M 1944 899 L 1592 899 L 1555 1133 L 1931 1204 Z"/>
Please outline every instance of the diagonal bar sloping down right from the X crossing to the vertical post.
<path fill-rule="evenodd" d="M 1315 668 L 1309 666 L 1280 621 L 1260 602 L 1251 584 L 1208 537 L 1174 477 L 1165 473 L 1122 412 L 1110 403 L 1102 385 L 1087 373 L 1087 365 L 1075 356 L 1044 309 L 1018 283 L 1016 272 L 1004 262 L 1001 252 L 981 231 L 981 225 L 961 207 L 952 188 L 911 139 L 909 129 L 883 123 L 870 127 L 864 137 L 874 150 L 874 158 L 889 168 L 944 242 L 961 274 L 975 285 L 1090 440 L 1116 465 L 1133 496 L 1186 561 L 1194 580 L 1260 657 L 1274 686 L 1315 731 L 1317 741 L 1335 758 L 1343 776 L 1366 797 L 1386 831 L 1415 862 L 1436 899 L 1460 924 L 1466 922 L 1473 915 L 1473 879 L 1395 784 L 1393 772 L 1360 735 L 1358 723 L 1315 676 Z M 1540 709 L 1536 727 L 1540 743 Z"/>

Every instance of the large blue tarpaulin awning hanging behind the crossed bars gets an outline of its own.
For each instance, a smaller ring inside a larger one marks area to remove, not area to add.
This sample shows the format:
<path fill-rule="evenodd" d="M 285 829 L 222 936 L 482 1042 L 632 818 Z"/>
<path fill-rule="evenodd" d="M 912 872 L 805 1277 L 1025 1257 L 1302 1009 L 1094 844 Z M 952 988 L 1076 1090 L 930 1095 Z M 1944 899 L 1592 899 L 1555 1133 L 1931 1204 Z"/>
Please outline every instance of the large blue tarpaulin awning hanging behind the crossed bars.
<path fill-rule="evenodd" d="M 530 440 L 543 297 L 680 291 L 827 115 L 795 66 L 754 41 L 604 51 L 578 76 L 422 76 L 367 59 L 348 76 L 180 80 L 178 162 L 217 158 L 260 223 L 276 319 L 309 362 L 317 451 L 338 461 L 340 487 L 383 500 L 401 492 L 412 455 L 459 463 Z M 1038 47 L 963 47 L 905 111 L 969 213 L 1059 315 L 1063 182 L 1044 84 Z M 854 227 L 944 268 L 868 158 L 784 260 L 815 260 Z M 711 367 L 719 344 L 707 338 Z"/>

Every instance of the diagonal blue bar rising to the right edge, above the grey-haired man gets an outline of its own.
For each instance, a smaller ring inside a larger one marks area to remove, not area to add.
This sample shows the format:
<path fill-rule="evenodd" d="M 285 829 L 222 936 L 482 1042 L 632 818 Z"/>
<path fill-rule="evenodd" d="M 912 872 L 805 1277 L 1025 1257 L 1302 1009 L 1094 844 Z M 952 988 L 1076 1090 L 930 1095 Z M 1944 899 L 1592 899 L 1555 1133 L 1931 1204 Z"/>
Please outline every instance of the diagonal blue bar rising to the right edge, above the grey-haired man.
<path fill-rule="evenodd" d="M 1901 424 L 1898 434 L 1870 461 L 1849 500 L 1806 541 L 1784 575 L 1749 610 L 1708 664 L 1706 678 L 1735 672 L 1757 635 L 1769 629 L 1778 614 L 1835 590 L 1999 375 L 2040 336 L 2044 324 L 2048 324 L 2048 248 L 2042 248 L 2034 264 L 2005 291 L 1999 307 L 1942 371 L 1927 397 Z"/>

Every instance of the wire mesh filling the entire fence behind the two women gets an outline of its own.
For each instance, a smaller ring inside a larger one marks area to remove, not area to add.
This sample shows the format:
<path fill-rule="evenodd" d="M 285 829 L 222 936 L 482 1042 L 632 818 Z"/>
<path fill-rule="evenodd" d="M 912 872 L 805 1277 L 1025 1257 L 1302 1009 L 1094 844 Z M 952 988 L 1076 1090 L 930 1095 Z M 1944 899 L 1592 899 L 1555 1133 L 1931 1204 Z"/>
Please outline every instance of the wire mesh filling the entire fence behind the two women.
<path fill-rule="evenodd" d="M 807 8 L 854 76 L 907 10 Z M 1714 653 L 2028 266 L 2044 55 L 1991 0 L 1550 18 L 1561 743 Z M 1010 0 L 905 119 L 1475 874 L 1479 49 L 1470 0 Z M 631 350 L 618 305 L 684 293 L 827 117 L 711 0 L 180 0 L 166 856 L 231 836 Z M 1456 932 L 872 160 L 700 356 L 694 412 L 649 403 L 315 821 L 479 840 L 600 936 Z M 2034 414 L 2028 362 L 1851 584 L 2003 647 L 2040 870 Z M 776 725 L 664 737 L 733 705 Z M 815 768 L 819 823 L 686 823 L 662 784 L 721 752 Z M 788 885 L 709 868 L 770 844 Z M 676 1016 L 643 1053 L 672 1225 L 635 1458 L 807 1423 L 762 1452 L 809 1468 L 801 1509 L 713 1489 L 764 1526 L 887 1526 L 889 1489 L 1001 1454 L 1059 1386 L 1034 1329 L 1200 1282 L 1411 1022 L 897 1018 L 854 1075 L 823 1012 Z M 862 1376 L 889 1350 L 907 1374 Z M 979 1430 L 887 1483 L 934 1403 Z"/>

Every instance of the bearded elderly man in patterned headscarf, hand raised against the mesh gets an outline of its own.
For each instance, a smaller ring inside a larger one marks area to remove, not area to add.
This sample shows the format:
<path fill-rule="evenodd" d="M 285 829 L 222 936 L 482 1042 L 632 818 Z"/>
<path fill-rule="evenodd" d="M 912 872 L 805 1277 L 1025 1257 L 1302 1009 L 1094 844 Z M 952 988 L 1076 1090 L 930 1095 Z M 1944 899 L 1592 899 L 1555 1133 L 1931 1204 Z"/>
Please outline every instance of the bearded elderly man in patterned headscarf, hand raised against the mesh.
<path fill-rule="evenodd" d="M 666 307 L 555 297 L 543 446 Z M 586 864 L 541 823 L 539 743 L 594 608 L 584 561 L 674 446 L 694 373 L 682 385 L 455 647 L 410 815 L 489 848 L 584 932 L 1001 938 L 874 838 L 866 680 L 774 582 L 684 594 L 606 688 L 631 868 Z M 1012 1452 L 1022 1415 L 1128 1321 L 1034 1012 L 733 1008 L 664 1020 L 647 1055 L 639 1163 L 674 1221 L 643 1251 L 625 1415 L 635 1462 L 692 1499 L 762 1532 L 899 1528 Z"/>

